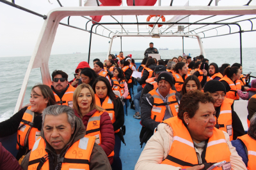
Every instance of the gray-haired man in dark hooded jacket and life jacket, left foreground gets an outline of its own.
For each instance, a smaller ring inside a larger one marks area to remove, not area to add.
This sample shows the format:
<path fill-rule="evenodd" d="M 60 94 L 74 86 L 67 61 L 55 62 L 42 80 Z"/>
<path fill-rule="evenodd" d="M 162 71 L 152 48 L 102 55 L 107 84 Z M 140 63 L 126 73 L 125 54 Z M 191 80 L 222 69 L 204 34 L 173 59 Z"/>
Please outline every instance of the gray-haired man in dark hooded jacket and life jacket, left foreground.
<path fill-rule="evenodd" d="M 72 108 L 59 105 L 47 107 L 43 112 L 42 125 L 42 138 L 38 138 L 37 145 L 35 143 L 31 152 L 36 152 L 38 148 L 42 147 L 42 145 L 40 144 L 41 140 L 43 139 L 44 143 L 46 143 L 43 152 L 47 152 L 48 159 L 41 159 L 39 161 L 45 160 L 45 164 L 49 162 L 49 169 L 60 170 L 63 163 L 68 164 L 68 162 L 65 162 L 65 160 L 67 159 L 63 158 L 66 157 L 66 154 L 70 153 L 68 152 L 69 150 L 71 151 L 71 153 L 73 153 L 72 149 L 74 148 L 72 147 L 72 145 L 76 146 L 76 142 L 79 141 L 79 145 L 77 148 L 80 148 L 81 150 L 89 150 L 90 146 L 93 145 L 90 159 L 88 160 L 88 162 L 83 162 L 83 164 L 88 164 L 90 169 L 94 170 L 111 170 L 111 166 L 109 164 L 106 153 L 99 145 L 94 142 L 91 143 L 90 140 L 93 137 L 86 138 L 86 129 L 83 125 L 83 122 L 80 118 L 74 115 L 74 110 Z M 80 145 L 81 143 L 83 143 L 83 145 Z M 21 167 L 24 170 L 27 170 L 28 166 L 33 166 L 32 163 L 38 163 L 33 161 L 30 162 L 29 165 L 29 157 L 32 154 L 31 152 L 29 152 L 22 161 Z M 39 152 L 38 154 L 40 153 L 41 152 Z M 42 154 L 42 156 L 40 155 L 40 157 L 44 156 L 44 154 Z M 67 156 L 70 157 L 70 155 Z M 77 151 L 77 160 L 83 160 L 83 157 L 85 156 L 86 155 L 83 155 L 83 152 Z M 73 159 L 70 159 L 70 161 L 71 160 Z M 69 164 L 72 165 L 73 163 Z M 40 164 L 38 164 L 38 166 L 39 165 Z M 44 166 L 44 164 L 42 164 L 42 166 Z"/>

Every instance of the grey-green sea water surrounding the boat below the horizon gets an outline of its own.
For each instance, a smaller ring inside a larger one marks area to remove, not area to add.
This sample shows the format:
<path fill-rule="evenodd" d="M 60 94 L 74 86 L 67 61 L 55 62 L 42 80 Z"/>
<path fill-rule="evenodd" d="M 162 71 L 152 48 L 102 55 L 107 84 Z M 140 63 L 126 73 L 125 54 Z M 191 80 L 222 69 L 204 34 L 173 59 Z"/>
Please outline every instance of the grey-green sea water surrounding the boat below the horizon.
<path fill-rule="evenodd" d="M 184 51 L 191 57 L 196 57 L 200 54 L 199 49 L 191 49 Z M 119 52 L 112 52 L 113 54 Z M 161 59 L 172 59 L 182 55 L 182 50 L 159 50 Z M 124 55 L 132 54 L 134 59 L 142 59 L 144 51 L 127 51 Z M 243 48 L 243 74 L 252 71 L 252 76 L 256 76 L 255 55 L 256 48 Z M 93 59 L 106 59 L 108 53 L 91 53 L 90 66 L 92 67 Z M 223 63 L 234 64 L 240 63 L 239 48 L 221 48 L 221 49 L 205 49 L 205 58 L 209 62 L 216 62 L 220 67 Z M 15 105 L 19 96 L 20 88 L 23 83 L 24 76 L 29 64 L 30 56 L 26 57 L 2 57 L 0 58 L 0 122 L 10 118 L 13 115 Z M 71 53 L 51 55 L 49 59 L 50 74 L 55 69 L 61 69 L 68 74 L 68 80 L 73 80 L 77 64 L 81 61 L 88 61 L 88 53 Z M 140 60 L 141 61 L 141 60 Z M 37 83 L 42 83 L 40 68 L 33 69 L 29 76 L 28 87 L 24 97 L 23 105 L 29 103 L 31 89 Z"/>

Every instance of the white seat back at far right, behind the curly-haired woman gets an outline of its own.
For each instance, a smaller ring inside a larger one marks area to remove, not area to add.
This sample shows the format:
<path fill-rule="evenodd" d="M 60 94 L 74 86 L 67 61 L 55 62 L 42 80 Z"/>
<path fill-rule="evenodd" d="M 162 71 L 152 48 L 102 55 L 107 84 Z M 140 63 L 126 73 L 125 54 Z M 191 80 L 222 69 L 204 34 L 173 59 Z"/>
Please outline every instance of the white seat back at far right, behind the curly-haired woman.
<path fill-rule="evenodd" d="M 238 117 L 240 118 L 244 131 L 248 131 L 248 125 L 247 125 L 247 110 L 248 101 L 244 101 L 242 99 L 234 101 L 234 111 L 236 111 Z"/>

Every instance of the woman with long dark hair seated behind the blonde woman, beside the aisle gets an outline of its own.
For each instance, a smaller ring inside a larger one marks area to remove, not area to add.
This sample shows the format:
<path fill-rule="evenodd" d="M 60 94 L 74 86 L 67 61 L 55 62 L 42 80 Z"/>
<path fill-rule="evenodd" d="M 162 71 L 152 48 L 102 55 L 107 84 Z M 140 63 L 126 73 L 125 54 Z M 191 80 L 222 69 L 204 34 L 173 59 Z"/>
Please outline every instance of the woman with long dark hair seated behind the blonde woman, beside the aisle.
<path fill-rule="evenodd" d="M 121 141 L 124 143 L 123 133 L 120 130 L 122 125 L 124 125 L 124 106 L 120 98 L 116 97 L 113 93 L 108 79 L 98 77 L 93 84 L 93 90 L 95 92 L 96 104 L 108 111 L 115 131 L 115 155 L 111 166 L 113 169 L 122 169 L 119 153 Z"/>

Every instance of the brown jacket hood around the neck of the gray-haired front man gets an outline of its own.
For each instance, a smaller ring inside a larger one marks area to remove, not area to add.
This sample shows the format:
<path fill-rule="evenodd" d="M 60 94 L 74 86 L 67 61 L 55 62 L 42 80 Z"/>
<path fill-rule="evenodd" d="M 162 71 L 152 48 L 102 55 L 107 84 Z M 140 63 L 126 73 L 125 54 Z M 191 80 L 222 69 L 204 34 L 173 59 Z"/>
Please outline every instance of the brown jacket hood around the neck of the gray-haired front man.
<path fill-rule="evenodd" d="M 86 129 L 83 125 L 83 122 L 81 118 L 76 117 L 76 125 L 75 125 L 75 131 L 74 134 L 72 134 L 68 144 L 61 150 L 60 157 L 62 157 L 63 153 L 67 150 L 67 148 L 71 145 L 73 145 L 76 141 L 79 139 L 83 138 L 85 135 Z M 54 148 L 45 140 L 44 136 L 44 127 L 41 129 L 41 137 L 44 139 L 46 146 L 45 146 L 45 151 L 47 153 L 52 153 L 54 155 L 57 155 Z"/>

